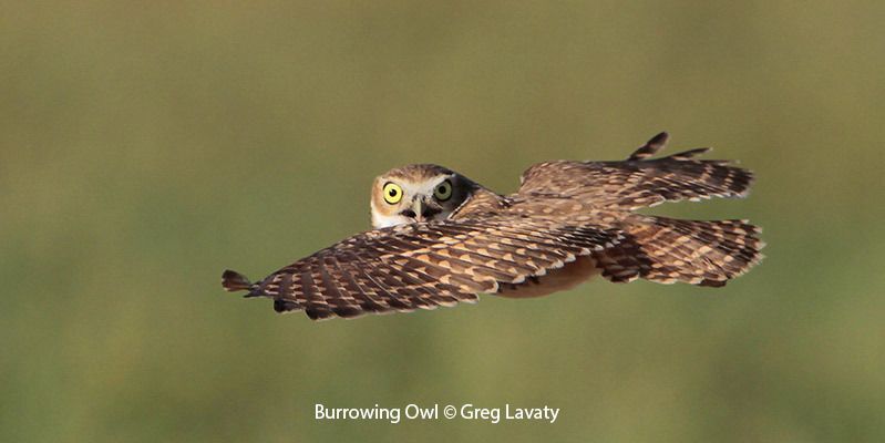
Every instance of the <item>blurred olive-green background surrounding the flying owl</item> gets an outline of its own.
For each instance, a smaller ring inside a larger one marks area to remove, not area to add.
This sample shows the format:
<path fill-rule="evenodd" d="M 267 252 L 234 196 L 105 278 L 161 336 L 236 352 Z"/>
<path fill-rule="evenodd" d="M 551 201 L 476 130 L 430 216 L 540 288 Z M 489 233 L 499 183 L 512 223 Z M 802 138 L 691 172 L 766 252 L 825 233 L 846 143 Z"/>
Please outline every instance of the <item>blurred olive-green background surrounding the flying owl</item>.
<path fill-rule="evenodd" d="M 885 440 L 882 2 L 4 2 L 0 441 Z M 432 162 L 502 192 L 658 131 L 759 176 L 722 290 L 353 321 L 220 289 Z M 313 404 L 560 408 L 317 422 Z"/>

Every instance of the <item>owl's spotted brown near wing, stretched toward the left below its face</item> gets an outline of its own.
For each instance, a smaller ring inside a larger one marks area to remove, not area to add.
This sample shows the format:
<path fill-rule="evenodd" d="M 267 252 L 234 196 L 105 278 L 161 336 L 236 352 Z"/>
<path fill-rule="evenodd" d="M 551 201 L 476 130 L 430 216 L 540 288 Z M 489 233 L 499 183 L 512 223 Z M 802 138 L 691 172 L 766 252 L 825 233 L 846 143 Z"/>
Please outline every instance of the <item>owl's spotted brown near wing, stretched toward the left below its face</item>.
<path fill-rule="evenodd" d="M 500 282 L 518 284 L 593 251 L 620 234 L 553 219 L 490 215 L 371 230 L 250 284 L 227 270 L 223 285 L 274 299 L 277 312 L 311 319 L 435 309 L 475 302 Z"/>

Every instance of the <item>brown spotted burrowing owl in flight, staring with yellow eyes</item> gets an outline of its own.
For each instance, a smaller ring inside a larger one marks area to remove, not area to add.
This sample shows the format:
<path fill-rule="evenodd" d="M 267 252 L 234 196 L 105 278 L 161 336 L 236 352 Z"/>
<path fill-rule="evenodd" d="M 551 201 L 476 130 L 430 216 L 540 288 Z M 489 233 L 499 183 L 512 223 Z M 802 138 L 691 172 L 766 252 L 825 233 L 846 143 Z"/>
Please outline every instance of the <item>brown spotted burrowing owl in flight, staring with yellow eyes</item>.
<path fill-rule="evenodd" d="M 650 159 L 661 133 L 619 162 L 533 165 L 500 195 L 453 171 L 410 165 L 375 178 L 372 227 L 253 284 L 226 270 L 228 291 L 274 299 L 311 319 L 475 302 L 477 293 L 538 297 L 594 275 L 723 286 L 761 259 L 747 220 L 634 213 L 663 202 L 747 195 L 752 174 L 698 148 Z"/>

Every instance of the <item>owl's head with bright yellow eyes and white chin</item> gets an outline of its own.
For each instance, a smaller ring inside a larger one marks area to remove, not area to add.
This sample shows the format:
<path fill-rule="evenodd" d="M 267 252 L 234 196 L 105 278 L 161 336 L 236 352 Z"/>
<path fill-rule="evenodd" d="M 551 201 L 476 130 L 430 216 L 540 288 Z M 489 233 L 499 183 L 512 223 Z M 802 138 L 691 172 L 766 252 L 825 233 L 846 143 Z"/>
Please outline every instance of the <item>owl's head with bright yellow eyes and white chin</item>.
<path fill-rule="evenodd" d="M 390 169 L 372 185 L 372 227 L 445 219 L 477 187 L 471 179 L 442 166 Z"/>

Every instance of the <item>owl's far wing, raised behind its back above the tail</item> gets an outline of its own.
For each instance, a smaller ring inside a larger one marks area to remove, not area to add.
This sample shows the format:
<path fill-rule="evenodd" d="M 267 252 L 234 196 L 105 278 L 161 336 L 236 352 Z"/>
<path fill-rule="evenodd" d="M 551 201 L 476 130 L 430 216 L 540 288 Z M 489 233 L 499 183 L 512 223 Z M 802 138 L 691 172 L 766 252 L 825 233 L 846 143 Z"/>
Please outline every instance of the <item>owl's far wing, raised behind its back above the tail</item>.
<path fill-rule="evenodd" d="M 663 202 L 711 197 L 743 197 L 753 175 L 727 161 L 696 159 L 697 148 L 649 159 L 663 148 L 660 133 L 620 162 L 547 162 L 529 167 L 518 194 L 567 196 L 597 207 L 632 210 Z"/>

